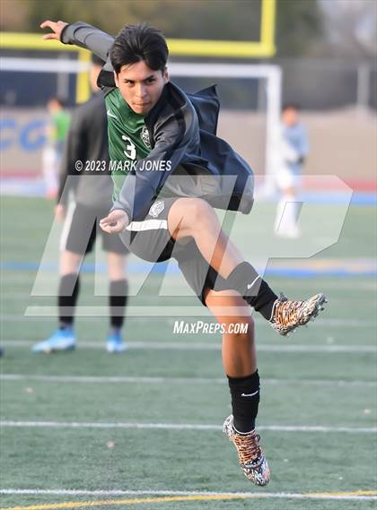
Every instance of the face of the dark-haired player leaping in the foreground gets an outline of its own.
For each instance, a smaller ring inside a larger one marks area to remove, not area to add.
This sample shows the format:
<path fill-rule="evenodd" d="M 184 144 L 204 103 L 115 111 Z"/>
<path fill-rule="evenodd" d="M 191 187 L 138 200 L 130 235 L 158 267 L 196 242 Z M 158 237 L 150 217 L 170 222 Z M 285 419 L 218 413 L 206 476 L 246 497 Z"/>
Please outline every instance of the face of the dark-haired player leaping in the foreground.
<path fill-rule="evenodd" d="M 168 79 L 167 71 L 153 71 L 144 60 L 123 65 L 119 73 L 115 73 L 115 82 L 123 99 L 135 113 L 143 115 L 156 104 Z"/>

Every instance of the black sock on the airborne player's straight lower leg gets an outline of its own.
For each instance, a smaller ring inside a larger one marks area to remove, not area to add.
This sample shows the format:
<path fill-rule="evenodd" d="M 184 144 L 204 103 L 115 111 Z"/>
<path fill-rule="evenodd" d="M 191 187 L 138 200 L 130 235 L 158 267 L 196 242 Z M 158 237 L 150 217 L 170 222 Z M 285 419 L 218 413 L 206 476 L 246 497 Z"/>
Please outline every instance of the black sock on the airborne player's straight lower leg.
<path fill-rule="evenodd" d="M 246 377 L 228 377 L 232 395 L 233 425 L 237 432 L 246 433 L 255 428 L 259 407 L 258 370 Z"/>

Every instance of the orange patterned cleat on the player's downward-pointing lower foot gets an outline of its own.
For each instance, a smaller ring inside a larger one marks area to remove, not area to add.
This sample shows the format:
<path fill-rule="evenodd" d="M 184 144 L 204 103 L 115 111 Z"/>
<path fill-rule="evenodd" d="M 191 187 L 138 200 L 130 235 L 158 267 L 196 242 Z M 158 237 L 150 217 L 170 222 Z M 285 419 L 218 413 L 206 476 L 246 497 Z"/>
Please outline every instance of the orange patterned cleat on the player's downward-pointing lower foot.
<path fill-rule="evenodd" d="M 224 421 L 223 432 L 236 447 L 241 469 L 255 485 L 267 485 L 269 482 L 269 467 L 263 450 L 259 446 L 260 437 L 255 430 L 247 434 L 237 432 L 233 425 L 233 417 L 228 416 Z"/>

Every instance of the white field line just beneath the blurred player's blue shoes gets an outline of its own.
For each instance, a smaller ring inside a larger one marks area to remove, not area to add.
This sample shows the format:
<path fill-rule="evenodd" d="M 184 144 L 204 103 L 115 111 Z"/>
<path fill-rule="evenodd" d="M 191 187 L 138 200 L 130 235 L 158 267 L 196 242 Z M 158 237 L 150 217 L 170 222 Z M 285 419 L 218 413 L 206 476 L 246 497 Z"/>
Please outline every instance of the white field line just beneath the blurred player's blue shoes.
<path fill-rule="evenodd" d="M 194 335 L 193 335 L 194 336 Z M 4 340 L 1 345 L 4 347 L 31 347 L 35 341 L 29 340 Z M 132 350 L 220 350 L 220 342 L 198 342 L 198 341 L 127 341 L 127 346 Z M 103 349 L 100 341 L 79 341 L 77 347 L 80 349 Z M 300 345 L 300 344 L 263 344 L 258 345 L 259 352 L 327 352 L 327 353 L 377 353 L 377 346 L 374 345 Z"/>

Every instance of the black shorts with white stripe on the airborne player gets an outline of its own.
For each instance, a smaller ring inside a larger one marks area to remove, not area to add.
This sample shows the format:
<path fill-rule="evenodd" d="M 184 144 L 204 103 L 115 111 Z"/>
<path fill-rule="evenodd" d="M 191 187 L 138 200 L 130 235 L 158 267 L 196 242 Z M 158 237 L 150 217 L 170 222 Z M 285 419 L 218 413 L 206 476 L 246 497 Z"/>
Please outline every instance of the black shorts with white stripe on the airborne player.
<path fill-rule="evenodd" d="M 156 200 L 142 220 L 134 220 L 120 234 L 130 252 L 148 262 L 163 262 L 175 258 L 189 286 L 197 298 L 206 305 L 206 289 L 228 290 L 229 285 L 201 255 L 197 244 L 191 240 L 187 245 L 176 243 L 168 229 L 168 214 L 178 198 Z"/>

